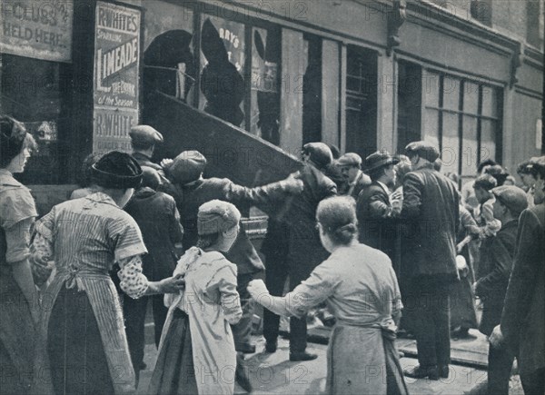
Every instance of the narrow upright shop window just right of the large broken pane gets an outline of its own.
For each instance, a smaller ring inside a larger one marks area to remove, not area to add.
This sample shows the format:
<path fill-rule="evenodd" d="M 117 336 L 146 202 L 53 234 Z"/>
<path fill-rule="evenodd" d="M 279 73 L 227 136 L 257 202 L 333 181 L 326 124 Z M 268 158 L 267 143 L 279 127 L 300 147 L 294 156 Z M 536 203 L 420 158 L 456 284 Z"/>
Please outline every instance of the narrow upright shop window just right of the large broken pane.
<path fill-rule="evenodd" d="M 250 132 L 280 143 L 280 56 L 278 29 L 252 28 Z"/>

